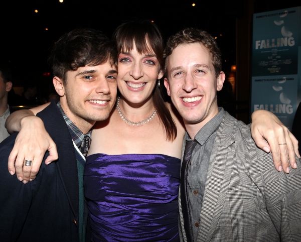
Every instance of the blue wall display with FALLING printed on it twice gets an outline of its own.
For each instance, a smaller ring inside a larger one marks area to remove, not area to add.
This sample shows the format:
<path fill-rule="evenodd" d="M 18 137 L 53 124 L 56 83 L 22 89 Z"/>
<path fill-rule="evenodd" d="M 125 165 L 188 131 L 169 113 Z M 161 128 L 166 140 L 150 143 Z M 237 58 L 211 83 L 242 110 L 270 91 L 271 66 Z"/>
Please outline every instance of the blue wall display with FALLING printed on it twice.
<path fill-rule="evenodd" d="M 301 101 L 301 7 L 253 15 L 251 112 L 273 112 L 291 131 Z"/>

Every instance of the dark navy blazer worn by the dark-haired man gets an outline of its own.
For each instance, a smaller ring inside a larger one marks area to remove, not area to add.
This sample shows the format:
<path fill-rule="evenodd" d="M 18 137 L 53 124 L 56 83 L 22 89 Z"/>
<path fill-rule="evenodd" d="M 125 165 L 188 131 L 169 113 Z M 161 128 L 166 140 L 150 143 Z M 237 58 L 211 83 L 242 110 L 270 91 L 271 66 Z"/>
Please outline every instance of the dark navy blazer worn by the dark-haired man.
<path fill-rule="evenodd" d="M 8 171 L 17 133 L 0 144 L 0 240 L 79 241 L 77 163 L 68 127 L 55 101 L 37 116 L 59 160 L 45 165 L 47 152 L 36 179 L 23 184 Z"/>

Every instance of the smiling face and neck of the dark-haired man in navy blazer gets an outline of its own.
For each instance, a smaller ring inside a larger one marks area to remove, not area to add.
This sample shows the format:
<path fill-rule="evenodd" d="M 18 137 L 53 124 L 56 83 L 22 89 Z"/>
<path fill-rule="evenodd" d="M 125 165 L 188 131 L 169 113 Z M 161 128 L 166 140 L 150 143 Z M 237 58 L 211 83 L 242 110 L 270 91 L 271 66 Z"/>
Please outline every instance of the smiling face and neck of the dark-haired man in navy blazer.
<path fill-rule="evenodd" d="M 95 123 L 108 118 L 116 100 L 117 70 L 110 61 L 66 73 L 61 105 L 73 123 Z"/>

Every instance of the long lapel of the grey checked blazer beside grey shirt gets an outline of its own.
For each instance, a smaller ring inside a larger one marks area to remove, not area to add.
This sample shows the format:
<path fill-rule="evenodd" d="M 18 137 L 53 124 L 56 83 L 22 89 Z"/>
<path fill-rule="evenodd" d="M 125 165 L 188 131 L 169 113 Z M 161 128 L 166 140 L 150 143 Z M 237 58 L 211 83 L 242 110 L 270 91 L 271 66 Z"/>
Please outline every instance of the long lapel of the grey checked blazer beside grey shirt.
<path fill-rule="evenodd" d="M 211 151 L 197 241 L 210 241 L 221 215 L 235 159 L 232 144 L 237 120 L 225 112 Z"/>

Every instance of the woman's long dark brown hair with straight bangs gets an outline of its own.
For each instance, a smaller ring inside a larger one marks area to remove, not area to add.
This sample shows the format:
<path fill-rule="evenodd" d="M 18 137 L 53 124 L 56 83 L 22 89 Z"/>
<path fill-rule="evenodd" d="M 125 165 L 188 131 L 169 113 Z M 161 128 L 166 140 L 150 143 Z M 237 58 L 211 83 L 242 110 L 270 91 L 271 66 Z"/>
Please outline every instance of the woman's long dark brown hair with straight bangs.
<path fill-rule="evenodd" d="M 134 44 L 139 54 L 155 53 L 160 68 L 164 67 L 164 40 L 159 28 L 149 20 L 134 20 L 121 24 L 113 34 L 118 55 L 121 52 L 130 52 Z M 163 82 L 163 81 L 162 81 Z M 156 85 L 153 91 L 153 102 L 158 116 L 164 125 L 166 139 L 174 141 L 177 137 L 177 127 L 172 115 L 164 103 L 162 91 Z"/>

